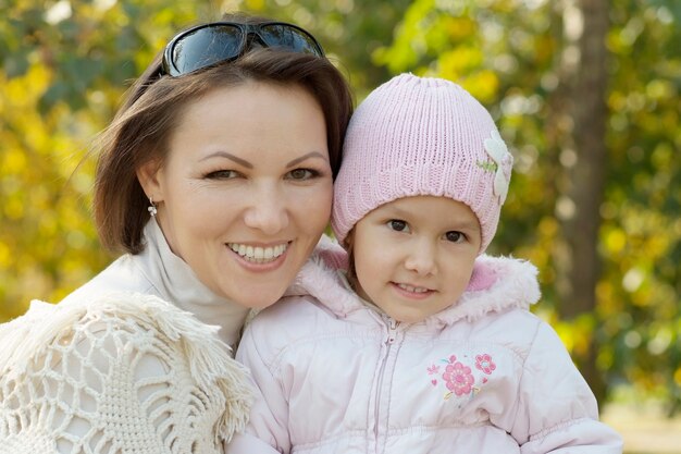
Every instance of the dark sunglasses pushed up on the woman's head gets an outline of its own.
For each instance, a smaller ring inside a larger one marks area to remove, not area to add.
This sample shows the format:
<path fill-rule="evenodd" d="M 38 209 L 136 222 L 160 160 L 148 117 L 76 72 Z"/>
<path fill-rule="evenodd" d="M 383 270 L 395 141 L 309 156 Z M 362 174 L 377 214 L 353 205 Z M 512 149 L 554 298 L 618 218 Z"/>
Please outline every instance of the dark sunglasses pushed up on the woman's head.
<path fill-rule="evenodd" d="M 233 61 L 252 47 L 324 57 L 324 50 L 317 39 L 293 24 L 213 22 L 182 32 L 165 46 L 161 75 L 177 77 Z"/>

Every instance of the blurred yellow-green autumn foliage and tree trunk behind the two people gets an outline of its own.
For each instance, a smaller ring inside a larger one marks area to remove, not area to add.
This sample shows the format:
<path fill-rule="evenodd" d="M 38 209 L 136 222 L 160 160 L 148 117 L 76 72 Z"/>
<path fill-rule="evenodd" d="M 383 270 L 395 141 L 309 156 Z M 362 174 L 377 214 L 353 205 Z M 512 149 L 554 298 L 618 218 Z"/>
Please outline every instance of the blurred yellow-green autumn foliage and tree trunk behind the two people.
<path fill-rule="evenodd" d="M 491 253 L 540 268 L 533 310 L 628 452 L 681 453 L 679 0 L 0 0 L 0 322 L 113 258 L 91 140 L 177 30 L 226 11 L 309 29 L 357 102 L 407 71 L 478 97 L 516 158 Z"/>

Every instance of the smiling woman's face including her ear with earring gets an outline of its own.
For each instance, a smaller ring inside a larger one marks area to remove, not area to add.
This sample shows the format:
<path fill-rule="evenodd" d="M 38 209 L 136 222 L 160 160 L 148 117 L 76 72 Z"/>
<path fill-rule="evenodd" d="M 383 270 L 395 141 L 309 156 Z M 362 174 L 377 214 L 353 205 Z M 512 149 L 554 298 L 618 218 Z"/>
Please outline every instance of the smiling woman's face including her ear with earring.
<path fill-rule="evenodd" d="M 327 224 L 324 115 L 297 86 L 250 82 L 189 105 L 162 167 L 138 177 L 175 255 L 245 307 L 278 299 Z"/>

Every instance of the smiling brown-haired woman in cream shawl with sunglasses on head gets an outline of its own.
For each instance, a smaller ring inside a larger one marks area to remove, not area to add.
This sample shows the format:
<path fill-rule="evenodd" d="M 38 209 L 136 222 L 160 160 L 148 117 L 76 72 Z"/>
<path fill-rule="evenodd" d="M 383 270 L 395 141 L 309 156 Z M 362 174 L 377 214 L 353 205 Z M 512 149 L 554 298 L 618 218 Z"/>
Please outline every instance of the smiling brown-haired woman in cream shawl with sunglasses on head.
<path fill-rule="evenodd" d="M 173 38 L 99 143 L 95 221 L 125 254 L 0 327 L 0 453 L 221 452 L 250 403 L 223 342 L 317 245 L 350 113 L 295 25 Z"/>

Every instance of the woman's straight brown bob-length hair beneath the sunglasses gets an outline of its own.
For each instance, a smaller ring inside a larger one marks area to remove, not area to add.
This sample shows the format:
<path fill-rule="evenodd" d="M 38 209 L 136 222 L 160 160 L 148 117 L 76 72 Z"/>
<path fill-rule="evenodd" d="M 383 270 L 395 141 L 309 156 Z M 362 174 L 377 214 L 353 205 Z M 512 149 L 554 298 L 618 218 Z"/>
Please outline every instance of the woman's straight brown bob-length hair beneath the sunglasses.
<path fill-rule="evenodd" d="M 234 17 L 234 16 L 233 16 Z M 226 17 L 232 19 L 232 17 Z M 244 21 L 243 16 L 239 22 Z M 102 245 L 138 254 L 149 220 L 149 200 L 136 171 L 151 160 L 163 165 L 169 138 L 186 106 L 201 96 L 248 82 L 299 86 L 324 113 L 333 177 L 340 167 L 352 96 L 343 74 L 325 58 L 257 48 L 216 66 L 183 75 L 159 76 L 162 52 L 129 88 L 122 108 L 98 140 L 94 214 Z M 238 112 L 234 112 L 238 115 Z"/>

